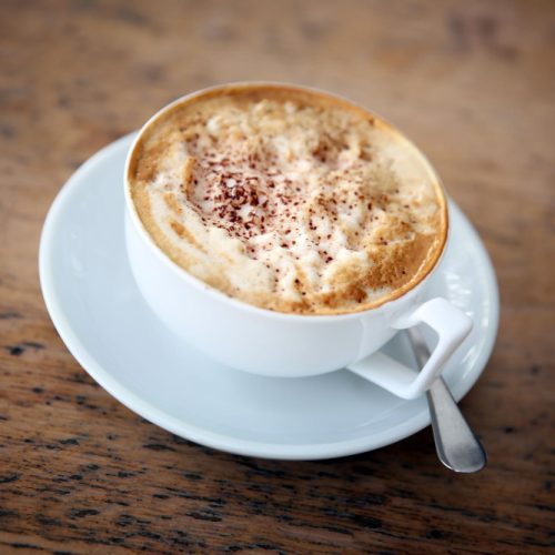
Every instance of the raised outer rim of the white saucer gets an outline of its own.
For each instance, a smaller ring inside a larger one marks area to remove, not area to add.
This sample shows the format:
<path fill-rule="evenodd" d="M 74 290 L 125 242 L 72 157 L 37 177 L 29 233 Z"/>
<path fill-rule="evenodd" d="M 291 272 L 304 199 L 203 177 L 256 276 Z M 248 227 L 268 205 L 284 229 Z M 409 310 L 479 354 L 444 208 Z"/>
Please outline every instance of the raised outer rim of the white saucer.
<path fill-rule="evenodd" d="M 78 334 L 73 331 L 71 322 L 62 307 L 62 303 L 56 294 L 53 278 L 54 259 L 51 253 L 53 249 L 56 249 L 57 222 L 60 215 L 64 213 L 65 209 L 68 206 L 71 208 L 72 199 L 79 194 L 81 188 L 84 186 L 83 184 L 88 182 L 88 174 L 107 158 L 119 155 L 118 150 L 122 149 L 128 143 L 131 144 L 135 133 L 137 132 L 129 133 L 103 147 L 75 170 L 52 202 L 40 236 L 39 278 L 44 303 L 60 337 L 83 370 L 124 406 L 158 426 L 184 437 L 188 441 L 239 455 L 290 461 L 335 458 L 373 451 L 396 443 L 426 427 L 430 424 L 430 413 L 427 410 L 423 410 L 394 427 L 387 427 L 377 433 L 353 440 L 315 444 L 276 444 L 248 441 L 226 434 L 215 433 L 164 413 L 164 411 L 159 408 L 155 404 L 145 402 L 141 396 L 122 385 L 108 370 L 104 370 L 102 365 L 97 362 L 94 355 L 89 352 Z M 453 386 L 453 395 L 456 401 L 460 401 L 474 386 L 492 355 L 498 330 L 500 301 L 495 271 L 485 245 L 464 212 L 452 199 L 450 199 L 450 210 L 458 212 L 457 215 L 462 218 L 467 225 L 467 231 L 477 243 L 477 250 L 483 259 L 482 263 L 491 278 L 488 296 L 492 299 L 491 313 L 488 314 L 491 319 L 491 332 L 485 341 L 480 360 L 476 361 L 472 374 L 467 375 L 465 381 L 458 381 Z M 446 249 L 448 249 L 448 245 Z"/>

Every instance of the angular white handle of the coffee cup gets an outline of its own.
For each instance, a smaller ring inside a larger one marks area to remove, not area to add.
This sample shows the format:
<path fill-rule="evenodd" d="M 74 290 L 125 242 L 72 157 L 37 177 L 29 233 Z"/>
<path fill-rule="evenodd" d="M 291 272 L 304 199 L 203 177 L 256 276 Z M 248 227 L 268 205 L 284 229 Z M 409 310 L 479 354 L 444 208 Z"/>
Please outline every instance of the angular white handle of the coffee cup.
<path fill-rule="evenodd" d="M 374 382 L 381 387 L 403 398 L 415 398 L 426 392 L 453 352 L 471 333 L 472 319 L 442 297 L 432 299 L 410 313 L 397 316 L 390 325 L 405 330 L 420 323 L 434 330 L 440 341 L 424 367 L 415 374 L 413 369 L 376 352 L 347 369 L 355 374 Z"/>

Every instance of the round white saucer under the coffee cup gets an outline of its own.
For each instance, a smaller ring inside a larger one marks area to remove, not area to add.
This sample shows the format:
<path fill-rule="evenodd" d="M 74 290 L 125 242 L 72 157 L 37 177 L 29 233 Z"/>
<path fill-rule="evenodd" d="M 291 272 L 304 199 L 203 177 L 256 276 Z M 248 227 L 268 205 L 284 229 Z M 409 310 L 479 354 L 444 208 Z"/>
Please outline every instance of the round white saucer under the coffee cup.
<path fill-rule="evenodd" d="M 122 174 L 132 135 L 68 181 L 48 214 L 40 279 L 63 342 L 89 374 L 132 411 L 203 445 L 273 458 L 327 458 L 389 445 L 430 424 L 424 398 L 403 401 L 349 371 L 262 377 L 224 367 L 174 337 L 143 302 L 127 260 Z M 452 236 L 431 295 L 470 314 L 474 331 L 445 370 L 460 400 L 482 373 L 497 332 L 492 264 L 451 204 Z M 384 350 L 408 364 L 406 339 Z"/>

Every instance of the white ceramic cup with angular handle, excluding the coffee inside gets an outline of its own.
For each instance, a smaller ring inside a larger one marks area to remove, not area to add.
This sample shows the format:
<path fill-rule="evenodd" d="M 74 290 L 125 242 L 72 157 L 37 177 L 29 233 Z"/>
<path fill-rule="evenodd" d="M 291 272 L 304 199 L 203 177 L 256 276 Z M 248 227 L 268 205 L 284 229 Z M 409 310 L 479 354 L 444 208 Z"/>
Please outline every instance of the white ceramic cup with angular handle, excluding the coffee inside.
<path fill-rule="evenodd" d="M 413 289 L 379 307 L 337 315 L 299 315 L 229 297 L 189 274 L 154 243 L 131 199 L 130 161 L 144 129 L 189 98 L 191 95 L 179 99 L 147 122 L 125 164 L 129 260 L 139 289 L 154 313 L 188 343 L 234 369 L 286 377 L 349 369 L 400 397 L 414 398 L 428 390 L 472 329 L 472 320 L 445 299 L 422 302 L 438 261 Z M 408 141 L 407 144 L 415 148 Z M 430 167 L 424 155 L 421 157 Z M 435 173 L 431 167 L 430 171 Z M 446 204 L 445 199 L 444 202 Z M 432 327 L 438 342 L 426 365 L 416 374 L 377 351 L 398 330 L 420 323 Z"/>

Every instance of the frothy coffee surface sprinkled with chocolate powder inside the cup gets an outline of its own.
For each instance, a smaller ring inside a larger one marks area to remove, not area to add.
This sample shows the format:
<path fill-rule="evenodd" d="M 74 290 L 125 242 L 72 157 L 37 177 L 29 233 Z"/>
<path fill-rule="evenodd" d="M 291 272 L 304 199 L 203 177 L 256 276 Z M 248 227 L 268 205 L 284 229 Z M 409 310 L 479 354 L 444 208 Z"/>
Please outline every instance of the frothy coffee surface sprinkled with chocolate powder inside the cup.
<path fill-rule="evenodd" d="M 422 281 L 446 240 L 445 196 L 418 150 L 369 111 L 302 88 L 185 98 L 142 131 L 128 181 L 173 262 L 273 311 L 376 307 Z"/>

